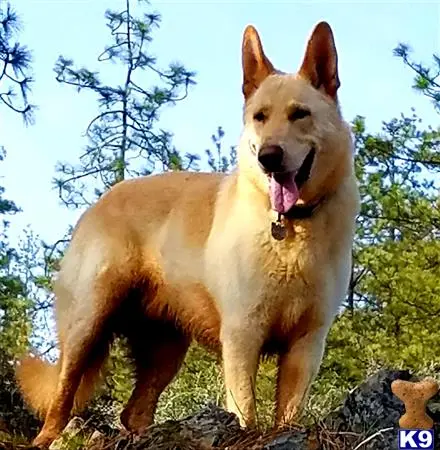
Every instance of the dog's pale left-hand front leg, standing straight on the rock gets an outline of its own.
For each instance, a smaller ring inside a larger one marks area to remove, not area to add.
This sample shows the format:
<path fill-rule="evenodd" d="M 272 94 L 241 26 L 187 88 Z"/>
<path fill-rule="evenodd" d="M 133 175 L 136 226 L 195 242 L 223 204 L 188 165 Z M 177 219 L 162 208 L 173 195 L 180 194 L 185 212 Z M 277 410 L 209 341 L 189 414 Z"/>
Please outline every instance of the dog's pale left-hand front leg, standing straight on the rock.
<path fill-rule="evenodd" d="M 221 332 L 226 407 L 242 427 L 255 425 L 255 377 L 262 336 L 258 327 L 224 326 Z"/>

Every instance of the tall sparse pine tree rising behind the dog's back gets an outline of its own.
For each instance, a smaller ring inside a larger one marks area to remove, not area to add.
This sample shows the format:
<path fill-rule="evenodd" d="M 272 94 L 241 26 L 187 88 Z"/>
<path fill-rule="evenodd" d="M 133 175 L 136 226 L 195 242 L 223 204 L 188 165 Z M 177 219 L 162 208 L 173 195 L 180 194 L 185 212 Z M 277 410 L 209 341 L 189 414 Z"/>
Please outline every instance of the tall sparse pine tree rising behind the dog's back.
<path fill-rule="evenodd" d="M 89 143 L 79 164 L 57 167 L 60 198 L 70 207 L 89 205 L 125 178 L 188 169 L 197 160 L 192 154 L 182 156 L 171 143 L 171 133 L 158 126 L 163 108 L 187 96 L 194 73 L 179 63 L 165 70 L 158 67 L 150 45 L 160 15 L 140 0 L 139 7 L 146 12 L 136 17 L 132 3 L 125 0 L 124 10 L 105 13 L 112 43 L 98 57 L 102 64 L 120 69 L 119 85 L 104 83 L 98 72 L 74 68 L 73 61 L 63 56 L 55 66 L 60 83 L 93 92 L 100 108 L 87 127 Z M 153 85 L 146 87 L 147 83 Z"/>

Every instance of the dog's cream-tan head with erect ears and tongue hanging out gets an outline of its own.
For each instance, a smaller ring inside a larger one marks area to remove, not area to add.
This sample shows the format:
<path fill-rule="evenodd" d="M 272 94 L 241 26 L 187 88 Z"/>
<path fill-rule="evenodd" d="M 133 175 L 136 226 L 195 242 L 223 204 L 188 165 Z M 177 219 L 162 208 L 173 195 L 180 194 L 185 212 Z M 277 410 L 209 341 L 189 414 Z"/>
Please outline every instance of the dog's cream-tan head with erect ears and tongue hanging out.
<path fill-rule="evenodd" d="M 330 26 L 319 23 L 296 74 L 277 71 L 254 27 L 243 36 L 244 132 L 240 171 L 267 192 L 272 209 L 319 201 L 337 188 L 352 159 L 337 100 L 338 58 Z"/>

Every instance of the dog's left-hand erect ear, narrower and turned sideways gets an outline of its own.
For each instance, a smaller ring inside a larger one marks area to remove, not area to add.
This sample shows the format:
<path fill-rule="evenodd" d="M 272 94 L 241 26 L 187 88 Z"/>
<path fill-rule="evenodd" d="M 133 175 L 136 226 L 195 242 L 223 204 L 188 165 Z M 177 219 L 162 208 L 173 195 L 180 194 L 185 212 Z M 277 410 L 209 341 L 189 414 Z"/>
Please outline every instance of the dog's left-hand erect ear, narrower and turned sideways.
<path fill-rule="evenodd" d="M 242 45 L 243 94 L 247 100 L 263 80 L 275 71 L 267 59 L 257 30 L 248 25 L 244 30 Z"/>

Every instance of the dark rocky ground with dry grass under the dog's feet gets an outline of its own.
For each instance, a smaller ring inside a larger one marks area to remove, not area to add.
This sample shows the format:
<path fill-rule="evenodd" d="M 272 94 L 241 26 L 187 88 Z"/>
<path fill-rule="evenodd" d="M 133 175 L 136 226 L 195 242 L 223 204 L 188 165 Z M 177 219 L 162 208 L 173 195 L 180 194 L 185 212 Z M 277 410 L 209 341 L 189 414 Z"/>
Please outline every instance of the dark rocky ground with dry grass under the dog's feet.
<path fill-rule="evenodd" d="M 397 378 L 413 380 L 407 371 L 382 370 L 350 392 L 337 410 L 307 429 L 292 428 L 266 434 L 249 432 L 240 428 L 235 416 L 218 406 L 208 405 L 194 416 L 153 425 L 142 437 L 121 433 L 105 423 L 74 418 L 63 439 L 54 442 L 51 448 L 395 450 L 398 448 L 397 422 L 404 411 L 403 404 L 391 392 L 391 382 Z M 2 395 L 0 392 L 0 433 L 33 435 L 38 428 L 35 419 L 23 411 L 17 415 L 22 408 L 19 394 L 13 390 L 8 398 Z M 7 407 L 12 404 L 11 400 L 16 408 L 12 411 Z M 436 448 L 440 449 L 440 394 L 429 402 L 428 411 L 436 423 Z M 29 447 L 5 442 L 0 443 L 1 448 Z"/>

